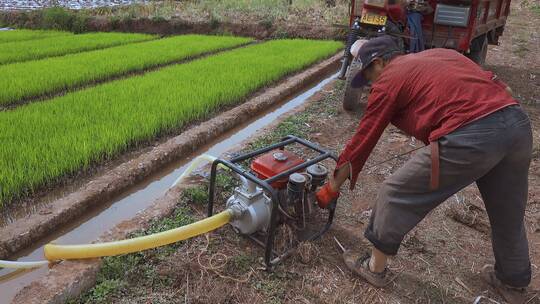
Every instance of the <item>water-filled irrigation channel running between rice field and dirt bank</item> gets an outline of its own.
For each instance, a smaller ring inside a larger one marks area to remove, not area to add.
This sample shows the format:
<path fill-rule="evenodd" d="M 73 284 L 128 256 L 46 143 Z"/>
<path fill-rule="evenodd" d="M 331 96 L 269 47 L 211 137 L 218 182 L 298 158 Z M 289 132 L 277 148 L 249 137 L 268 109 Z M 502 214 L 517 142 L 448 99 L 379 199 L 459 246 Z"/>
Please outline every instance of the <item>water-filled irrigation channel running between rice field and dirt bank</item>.
<path fill-rule="evenodd" d="M 281 105 L 275 106 L 265 113 L 253 117 L 251 121 L 217 137 L 212 143 L 202 147 L 189 158 L 174 162 L 159 173 L 141 181 L 138 185 L 126 189 L 124 193 L 96 208 L 98 210 L 88 212 L 76 222 L 55 231 L 54 234 L 37 242 L 32 248 L 20 252 L 12 259 L 16 258 L 17 261 L 44 260 L 43 246 L 50 241 L 57 244 L 83 244 L 96 240 L 106 231 L 120 222 L 134 217 L 138 212 L 152 205 L 155 199 L 164 195 L 175 180 L 189 167 L 194 158 L 203 154 L 220 156 L 237 147 L 242 141 L 271 124 L 281 115 L 305 103 L 308 98 L 335 77 L 337 74 L 322 79 L 298 95 L 280 103 Z M 24 286 L 44 277 L 47 272 L 47 266 L 26 271 L 0 270 L 0 303 L 9 303 Z"/>

